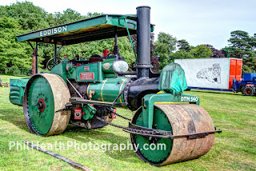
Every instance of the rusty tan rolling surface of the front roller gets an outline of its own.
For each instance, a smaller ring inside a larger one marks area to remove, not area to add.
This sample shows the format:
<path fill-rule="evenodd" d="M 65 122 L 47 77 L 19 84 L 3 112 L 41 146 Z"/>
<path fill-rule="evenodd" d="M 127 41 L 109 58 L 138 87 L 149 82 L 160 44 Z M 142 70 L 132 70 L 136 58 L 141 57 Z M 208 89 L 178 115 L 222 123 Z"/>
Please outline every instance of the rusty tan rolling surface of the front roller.
<path fill-rule="evenodd" d="M 155 105 L 168 117 L 173 134 L 189 134 L 214 131 L 214 123 L 205 109 L 199 105 Z M 187 137 L 174 138 L 170 156 L 161 165 L 177 161 L 186 161 L 206 154 L 214 144 L 214 133 L 206 137 L 188 139 Z"/>

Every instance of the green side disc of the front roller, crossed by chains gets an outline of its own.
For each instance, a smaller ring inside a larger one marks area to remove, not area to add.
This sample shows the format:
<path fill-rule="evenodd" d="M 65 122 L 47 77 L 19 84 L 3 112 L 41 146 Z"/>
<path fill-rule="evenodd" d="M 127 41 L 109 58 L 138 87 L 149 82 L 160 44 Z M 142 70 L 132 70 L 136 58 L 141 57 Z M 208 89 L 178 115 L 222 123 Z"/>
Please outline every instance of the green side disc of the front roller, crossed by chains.
<path fill-rule="evenodd" d="M 136 125 L 146 127 L 146 125 L 144 125 L 143 118 L 144 114 L 140 113 L 138 115 Z M 170 125 L 168 117 L 166 117 L 166 114 L 163 113 L 162 110 L 158 109 L 157 107 L 154 107 L 153 128 L 172 132 L 172 127 Z M 151 139 L 150 141 L 150 137 L 142 137 L 141 135 L 135 135 L 135 141 L 136 144 L 138 145 L 138 150 L 140 151 L 140 153 L 142 153 L 142 155 L 147 160 L 152 162 L 165 161 L 166 158 L 169 157 L 173 146 L 173 140 L 167 138 L 158 138 L 153 142 L 153 139 Z M 166 145 L 166 148 L 161 149 L 161 144 Z M 156 148 L 154 149 L 154 147 Z"/>

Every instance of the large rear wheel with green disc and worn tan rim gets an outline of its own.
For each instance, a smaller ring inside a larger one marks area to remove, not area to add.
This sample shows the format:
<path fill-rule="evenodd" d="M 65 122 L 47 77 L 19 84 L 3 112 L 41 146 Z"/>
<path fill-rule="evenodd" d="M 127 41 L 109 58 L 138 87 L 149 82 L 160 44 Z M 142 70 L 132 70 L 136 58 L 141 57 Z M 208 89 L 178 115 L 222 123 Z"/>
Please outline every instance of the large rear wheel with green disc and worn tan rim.
<path fill-rule="evenodd" d="M 23 110 L 32 133 L 49 136 L 62 133 L 70 121 L 70 111 L 62 111 L 70 91 L 56 74 L 35 74 L 26 85 Z M 61 110 L 61 111 L 58 111 Z"/>

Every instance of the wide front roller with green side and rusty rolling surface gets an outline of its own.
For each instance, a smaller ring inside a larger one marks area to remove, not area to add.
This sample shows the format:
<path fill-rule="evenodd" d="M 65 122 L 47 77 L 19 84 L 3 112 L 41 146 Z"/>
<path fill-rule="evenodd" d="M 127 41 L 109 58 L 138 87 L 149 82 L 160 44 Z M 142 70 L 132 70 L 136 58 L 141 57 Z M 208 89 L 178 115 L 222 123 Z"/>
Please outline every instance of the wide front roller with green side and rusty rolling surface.
<path fill-rule="evenodd" d="M 143 126 L 142 108 L 134 114 L 132 123 Z M 214 131 L 214 123 L 206 110 L 198 105 L 161 104 L 154 105 L 153 129 L 171 131 L 173 135 L 202 133 Z M 130 137 L 132 144 L 138 145 L 138 157 L 151 165 L 167 165 L 197 158 L 207 153 L 214 144 L 214 134 L 174 140 L 136 134 L 130 134 Z"/>

